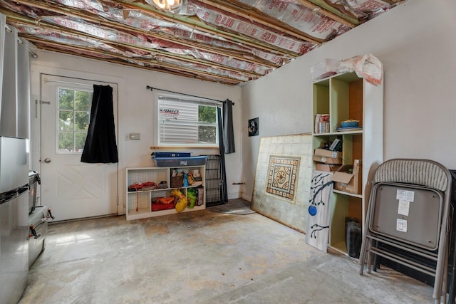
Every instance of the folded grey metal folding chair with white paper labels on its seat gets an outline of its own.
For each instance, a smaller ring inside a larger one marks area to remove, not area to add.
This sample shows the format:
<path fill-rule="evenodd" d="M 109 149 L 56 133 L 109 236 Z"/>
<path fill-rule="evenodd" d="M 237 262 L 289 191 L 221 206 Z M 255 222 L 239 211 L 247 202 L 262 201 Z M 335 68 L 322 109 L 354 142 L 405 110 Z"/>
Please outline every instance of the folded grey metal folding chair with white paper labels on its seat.
<path fill-rule="evenodd" d="M 371 273 L 373 256 L 389 259 L 433 276 L 432 297 L 435 303 L 445 303 L 452 183 L 449 170 L 427 159 L 390 159 L 375 170 L 371 182 L 360 274 L 364 266 Z M 413 256 L 419 256 L 420 261 Z"/>

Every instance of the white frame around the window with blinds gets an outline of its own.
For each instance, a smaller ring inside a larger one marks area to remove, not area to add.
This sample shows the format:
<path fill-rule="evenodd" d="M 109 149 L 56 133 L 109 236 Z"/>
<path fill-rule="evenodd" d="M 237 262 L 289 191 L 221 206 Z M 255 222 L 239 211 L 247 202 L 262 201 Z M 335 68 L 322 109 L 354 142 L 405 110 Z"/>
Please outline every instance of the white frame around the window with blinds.
<path fill-rule="evenodd" d="M 188 95 L 172 95 L 172 94 L 163 94 L 163 93 L 158 93 L 155 94 L 155 127 L 157 130 L 154 132 L 154 137 L 155 137 L 155 148 L 156 149 L 161 149 L 161 148 L 166 148 L 166 147 L 182 147 L 182 148 L 195 148 L 195 149 L 219 149 L 219 122 L 218 122 L 218 117 L 216 113 L 215 117 L 215 127 L 216 127 L 216 142 L 214 144 L 208 144 L 208 143 L 188 143 L 185 144 L 185 142 L 177 142 L 177 143 L 170 143 L 170 142 L 160 142 L 160 99 L 162 98 L 169 98 L 170 101 L 176 101 L 176 102 L 182 102 L 182 103 L 194 103 L 197 105 L 209 105 L 213 106 L 215 108 L 218 108 L 222 105 L 221 102 L 216 102 L 216 101 L 208 101 L 204 98 L 197 98 L 197 97 L 190 97 Z M 205 123 L 202 122 L 202 125 Z"/>

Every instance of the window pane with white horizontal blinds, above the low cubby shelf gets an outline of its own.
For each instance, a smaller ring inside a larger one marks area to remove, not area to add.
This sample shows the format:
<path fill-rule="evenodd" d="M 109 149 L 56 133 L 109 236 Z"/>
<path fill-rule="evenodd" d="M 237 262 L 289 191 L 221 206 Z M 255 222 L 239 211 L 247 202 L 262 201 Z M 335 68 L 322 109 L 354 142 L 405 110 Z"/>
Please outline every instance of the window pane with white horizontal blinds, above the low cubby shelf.
<path fill-rule="evenodd" d="M 217 104 L 160 95 L 158 145 L 218 147 Z"/>

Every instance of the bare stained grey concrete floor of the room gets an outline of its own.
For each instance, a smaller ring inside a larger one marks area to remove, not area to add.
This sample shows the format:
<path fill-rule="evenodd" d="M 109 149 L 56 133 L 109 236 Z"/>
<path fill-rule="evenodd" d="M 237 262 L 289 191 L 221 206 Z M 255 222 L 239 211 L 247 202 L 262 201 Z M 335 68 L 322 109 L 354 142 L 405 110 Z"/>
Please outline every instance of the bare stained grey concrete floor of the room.
<path fill-rule="evenodd" d="M 433 303 L 428 285 L 358 270 L 259 214 L 114 216 L 51 224 L 19 303 Z"/>

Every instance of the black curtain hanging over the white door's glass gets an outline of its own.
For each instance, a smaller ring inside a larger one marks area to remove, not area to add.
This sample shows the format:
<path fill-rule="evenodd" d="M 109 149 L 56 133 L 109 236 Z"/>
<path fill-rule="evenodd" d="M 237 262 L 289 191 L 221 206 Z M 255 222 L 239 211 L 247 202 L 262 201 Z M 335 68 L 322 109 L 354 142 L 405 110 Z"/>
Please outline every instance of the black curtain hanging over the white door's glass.
<path fill-rule="evenodd" d="M 113 88 L 109 85 L 93 85 L 92 108 L 86 144 L 81 162 L 118 162 L 115 143 Z"/>

